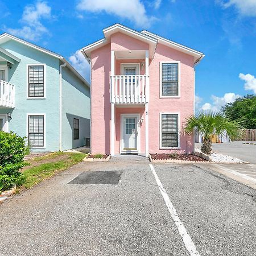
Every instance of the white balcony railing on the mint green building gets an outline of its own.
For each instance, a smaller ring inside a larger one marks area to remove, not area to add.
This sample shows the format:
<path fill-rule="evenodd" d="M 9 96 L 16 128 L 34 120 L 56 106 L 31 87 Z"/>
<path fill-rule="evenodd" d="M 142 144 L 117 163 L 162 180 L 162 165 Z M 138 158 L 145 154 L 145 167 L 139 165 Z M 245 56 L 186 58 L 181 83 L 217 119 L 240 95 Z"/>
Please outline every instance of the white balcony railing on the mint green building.
<path fill-rule="evenodd" d="M 0 80 L 0 108 L 14 108 L 14 85 Z"/>

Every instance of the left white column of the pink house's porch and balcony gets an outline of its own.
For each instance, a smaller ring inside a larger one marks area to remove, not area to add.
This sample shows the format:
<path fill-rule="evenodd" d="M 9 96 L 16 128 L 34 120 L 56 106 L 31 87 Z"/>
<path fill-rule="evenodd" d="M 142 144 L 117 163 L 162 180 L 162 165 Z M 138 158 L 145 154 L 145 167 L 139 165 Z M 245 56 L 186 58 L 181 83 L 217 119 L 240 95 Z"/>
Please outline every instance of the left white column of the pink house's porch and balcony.
<path fill-rule="evenodd" d="M 115 75 L 115 52 L 111 51 L 111 75 Z M 114 85 L 111 84 L 111 97 L 114 93 Z M 113 101 L 112 101 L 113 102 Z M 115 154 L 115 104 L 111 104 L 111 155 Z"/>

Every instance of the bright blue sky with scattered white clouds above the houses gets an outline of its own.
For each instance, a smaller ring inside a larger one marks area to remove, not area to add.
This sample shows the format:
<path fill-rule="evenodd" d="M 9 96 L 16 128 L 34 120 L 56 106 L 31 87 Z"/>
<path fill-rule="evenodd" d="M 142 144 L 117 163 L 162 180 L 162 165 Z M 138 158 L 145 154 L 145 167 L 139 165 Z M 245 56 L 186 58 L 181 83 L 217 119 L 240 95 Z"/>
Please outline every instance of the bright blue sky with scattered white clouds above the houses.
<path fill-rule="evenodd" d="M 256 0 L 0 0 L 0 10 L 1 33 L 60 53 L 86 79 L 89 67 L 77 50 L 118 22 L 204 52 L 197 109 L 217 110 L 256 93 Z"/>

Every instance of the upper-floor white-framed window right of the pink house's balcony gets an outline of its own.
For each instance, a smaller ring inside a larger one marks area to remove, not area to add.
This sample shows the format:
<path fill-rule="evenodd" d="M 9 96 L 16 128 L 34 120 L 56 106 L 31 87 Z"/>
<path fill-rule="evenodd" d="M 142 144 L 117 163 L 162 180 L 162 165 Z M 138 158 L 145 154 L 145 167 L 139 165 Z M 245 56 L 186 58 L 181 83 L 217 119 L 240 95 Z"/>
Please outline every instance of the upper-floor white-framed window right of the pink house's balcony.
<path fill-rule="evenodd" d="M 179 63 L 162 63 L 161 96 L 179 96 Z"/>

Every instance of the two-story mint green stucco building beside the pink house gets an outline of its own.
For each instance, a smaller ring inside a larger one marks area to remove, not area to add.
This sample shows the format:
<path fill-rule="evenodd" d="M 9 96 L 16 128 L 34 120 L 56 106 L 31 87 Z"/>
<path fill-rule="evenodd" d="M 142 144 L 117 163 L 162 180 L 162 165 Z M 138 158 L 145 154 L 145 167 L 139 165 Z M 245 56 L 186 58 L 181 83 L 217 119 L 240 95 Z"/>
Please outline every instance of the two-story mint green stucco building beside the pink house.
<path fill-rule="evenodd" d="M 90 85 L 63 56 L 0 35 L 0 130 L 32 151 L 64 151 L 90 137 Z"/>

